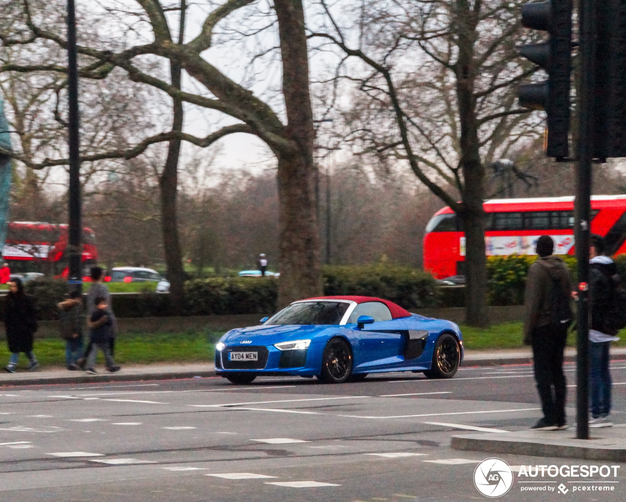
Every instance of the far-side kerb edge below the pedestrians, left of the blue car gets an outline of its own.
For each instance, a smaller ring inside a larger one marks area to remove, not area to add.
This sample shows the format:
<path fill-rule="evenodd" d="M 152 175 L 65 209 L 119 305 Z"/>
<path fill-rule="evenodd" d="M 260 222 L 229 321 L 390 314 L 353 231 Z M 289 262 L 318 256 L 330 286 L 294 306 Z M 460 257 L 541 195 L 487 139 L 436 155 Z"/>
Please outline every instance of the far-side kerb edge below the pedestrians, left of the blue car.
<path fill-rule="evenodd" d="M 193 377 L 214 377 L 215 370 L 207 371 L 167 371 L 150 373 L 110 373 L 86 376 L 53 376 L 37 378 L 16 378 L 0 381 L 0 387 L 29 386 L 29 385 L 54 385 L 54 384 L 90 384 L 106 382 L 139 382 L 145 380 L 174 380 Z"/>

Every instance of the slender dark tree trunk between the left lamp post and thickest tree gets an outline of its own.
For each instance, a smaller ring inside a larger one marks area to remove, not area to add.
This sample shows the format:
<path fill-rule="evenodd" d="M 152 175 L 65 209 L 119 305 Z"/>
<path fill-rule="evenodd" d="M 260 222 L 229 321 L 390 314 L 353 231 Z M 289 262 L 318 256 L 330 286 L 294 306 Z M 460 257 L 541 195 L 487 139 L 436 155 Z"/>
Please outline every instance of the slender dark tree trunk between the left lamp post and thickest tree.
<path fill-rule="evenodd" d="M 186 2 L 180 4 L 180 31 L 178 43 L 183 43 L 185 33 Z M 170 62 L 172 85 L 180 89 L 180 64 Z M 172 131 L 183 130 L 183 102 L 173 100 Z M 178 158 L 180 156 L 181 140 L 172 140 L 168 146 L 167 159 L 163 166 L 163 173 L 159 180 L 161 188 L 161 228 L 163 232 L 163 251 L 167 278 L 170 281 L 170 313 L 182 314 L 185 302 L 185 270 L 183 257 L 180 252 L 180 238 L 177 224 L 177 192 L 178 192 Z"/>

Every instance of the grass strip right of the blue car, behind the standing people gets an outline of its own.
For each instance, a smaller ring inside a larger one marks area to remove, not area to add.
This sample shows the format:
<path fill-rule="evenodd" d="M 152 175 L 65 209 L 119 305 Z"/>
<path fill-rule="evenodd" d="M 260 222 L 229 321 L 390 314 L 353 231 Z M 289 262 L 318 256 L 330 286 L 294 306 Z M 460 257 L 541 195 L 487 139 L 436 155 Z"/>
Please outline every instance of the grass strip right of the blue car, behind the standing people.
<path fill-rule="evenodd" d="M 504 322 L 502 324 L 494 324 L 488 328 L 475 328 L 470 326 L 461 326 L 463 333 L 463 341 L 465 348 L 476 351 L 488 351 L 491 349 L 521 349 L 524 347 L 522 343 L 522 323 L 521 322 Z M 613 342 L 613 346 L 626 346 L 626 329 L 622 330 L 618 335 L 621 340 Z M 576 346 L 576 332 L 571 332 L 567 337 L 568 347 Z"/>

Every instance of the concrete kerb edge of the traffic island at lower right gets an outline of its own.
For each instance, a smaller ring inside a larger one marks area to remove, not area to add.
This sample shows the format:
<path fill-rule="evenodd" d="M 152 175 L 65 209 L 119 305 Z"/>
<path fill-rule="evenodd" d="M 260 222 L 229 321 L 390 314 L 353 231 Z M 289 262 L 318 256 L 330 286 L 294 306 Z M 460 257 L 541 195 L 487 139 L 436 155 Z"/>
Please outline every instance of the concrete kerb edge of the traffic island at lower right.
<path fill-rule="evenodd" d="M 553 438 L 553 443 L 540 443 L 536 439 L 506 438 L 506 434 L 468 434 L 452 436 L 451 448 L 461 451 L 483 451 L 534 457 L 580 458 L 586 460 L 626 461 L 626 444 L 576 444 L 588 439 Z M 548 439 L 546 437 L 546 439 Z M 570 443 L 570 444 L 567 444 Z M 572 444 L 574 443 L 574 444 Z"/>

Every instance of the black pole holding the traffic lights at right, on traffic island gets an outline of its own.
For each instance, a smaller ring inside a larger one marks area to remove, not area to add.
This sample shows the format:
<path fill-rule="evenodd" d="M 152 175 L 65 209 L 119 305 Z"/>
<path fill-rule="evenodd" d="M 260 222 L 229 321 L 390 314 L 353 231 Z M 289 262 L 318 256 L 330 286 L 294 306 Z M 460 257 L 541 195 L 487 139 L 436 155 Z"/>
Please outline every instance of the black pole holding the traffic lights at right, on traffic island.
<path fill-rule="evenodd" d="M 576 259 L 578 261 L 578 341 L 576 369 L 576 437 L 589 439 L 589 217 L 594 138 L 593 88 L 597 43 L 596 0 L 580 2 L 581 83 L 578 99 L 580 138 L 576 193 Z"/>

